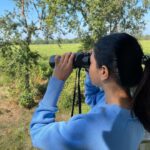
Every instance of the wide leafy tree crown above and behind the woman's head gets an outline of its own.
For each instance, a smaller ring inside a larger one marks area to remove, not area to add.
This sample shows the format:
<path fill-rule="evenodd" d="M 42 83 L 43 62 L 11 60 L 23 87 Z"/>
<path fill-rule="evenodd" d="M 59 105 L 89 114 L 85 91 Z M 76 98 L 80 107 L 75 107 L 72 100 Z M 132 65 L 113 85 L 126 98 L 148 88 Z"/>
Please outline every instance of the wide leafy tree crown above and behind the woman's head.
<path fill-rule="evenodd" d="M 89 48 L 96 39 L 113 32 L 136 34 L 144 28 L 149 0 L 46 0 L 49 27 L 59 33 L 76 32 Z M 63 30 L 62 30 L 63 29 Z"/>

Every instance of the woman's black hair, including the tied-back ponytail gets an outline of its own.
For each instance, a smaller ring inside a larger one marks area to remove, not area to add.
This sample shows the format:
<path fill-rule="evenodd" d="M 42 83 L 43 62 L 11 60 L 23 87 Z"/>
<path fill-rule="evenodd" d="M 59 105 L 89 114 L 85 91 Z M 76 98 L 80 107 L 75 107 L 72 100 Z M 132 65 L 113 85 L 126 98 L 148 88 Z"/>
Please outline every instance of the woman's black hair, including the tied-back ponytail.
<path fill-rule="evenodd" d="M 104 36 L 95 43 L 94 56 L 97 67 L 107 66 L 110 76 L 124 89 L 137 87 L 133 112 L 150 132 L 150 61 L 143 69 L 144 53 L 137 39 L 127 33 Z"/>

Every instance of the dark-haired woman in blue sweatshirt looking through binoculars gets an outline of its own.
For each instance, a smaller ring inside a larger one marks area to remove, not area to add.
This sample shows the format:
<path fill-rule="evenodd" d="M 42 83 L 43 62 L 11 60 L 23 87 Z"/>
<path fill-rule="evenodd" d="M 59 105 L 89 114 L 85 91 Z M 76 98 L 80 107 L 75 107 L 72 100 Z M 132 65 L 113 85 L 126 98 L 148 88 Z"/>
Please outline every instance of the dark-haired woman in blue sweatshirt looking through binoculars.
<path fill-rule="evenodd" d="M 44 150 L 137 150 L 144 128 L 150 131 L 150 58 L 143 61 L 143 71 L 144 55 L 134 37 L 116 33 L 101 38 L 86 73 L 85 101 L 90 112 L 55 122 L 73 58 L 67 53 L 55 59 L 53 76 L 31 121 L 33 145 Z"/>

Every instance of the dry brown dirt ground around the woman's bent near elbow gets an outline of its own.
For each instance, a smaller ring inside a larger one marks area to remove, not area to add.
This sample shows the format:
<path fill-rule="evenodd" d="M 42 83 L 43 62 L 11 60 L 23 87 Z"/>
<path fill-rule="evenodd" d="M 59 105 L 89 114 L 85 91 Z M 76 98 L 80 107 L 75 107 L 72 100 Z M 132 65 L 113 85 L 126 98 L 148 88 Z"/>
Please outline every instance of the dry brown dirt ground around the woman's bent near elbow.
<path fill-rule="evenodd" d="M 10 87 L 0 86 L 0 150 L 36 150 L 32 147 L 29 125 L 35 110 L 19 106 Z M 68 120 L 70 113 L 59 111 L 56 120 Z"/>

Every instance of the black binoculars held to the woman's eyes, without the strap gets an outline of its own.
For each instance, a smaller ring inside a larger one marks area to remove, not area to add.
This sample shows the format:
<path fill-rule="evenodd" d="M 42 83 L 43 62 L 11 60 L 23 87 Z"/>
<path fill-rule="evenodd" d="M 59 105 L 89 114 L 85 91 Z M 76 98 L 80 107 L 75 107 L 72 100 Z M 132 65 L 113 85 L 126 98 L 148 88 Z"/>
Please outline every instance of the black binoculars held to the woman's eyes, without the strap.
<path fill-rule="evenodd" d="M 52 55 L 49 59 L 49 64 L 52 68 L 55 67 L 55 56 Z M 75 53 L 73 59 L 73 68 L 89 68 L 91 53 Z"/>

